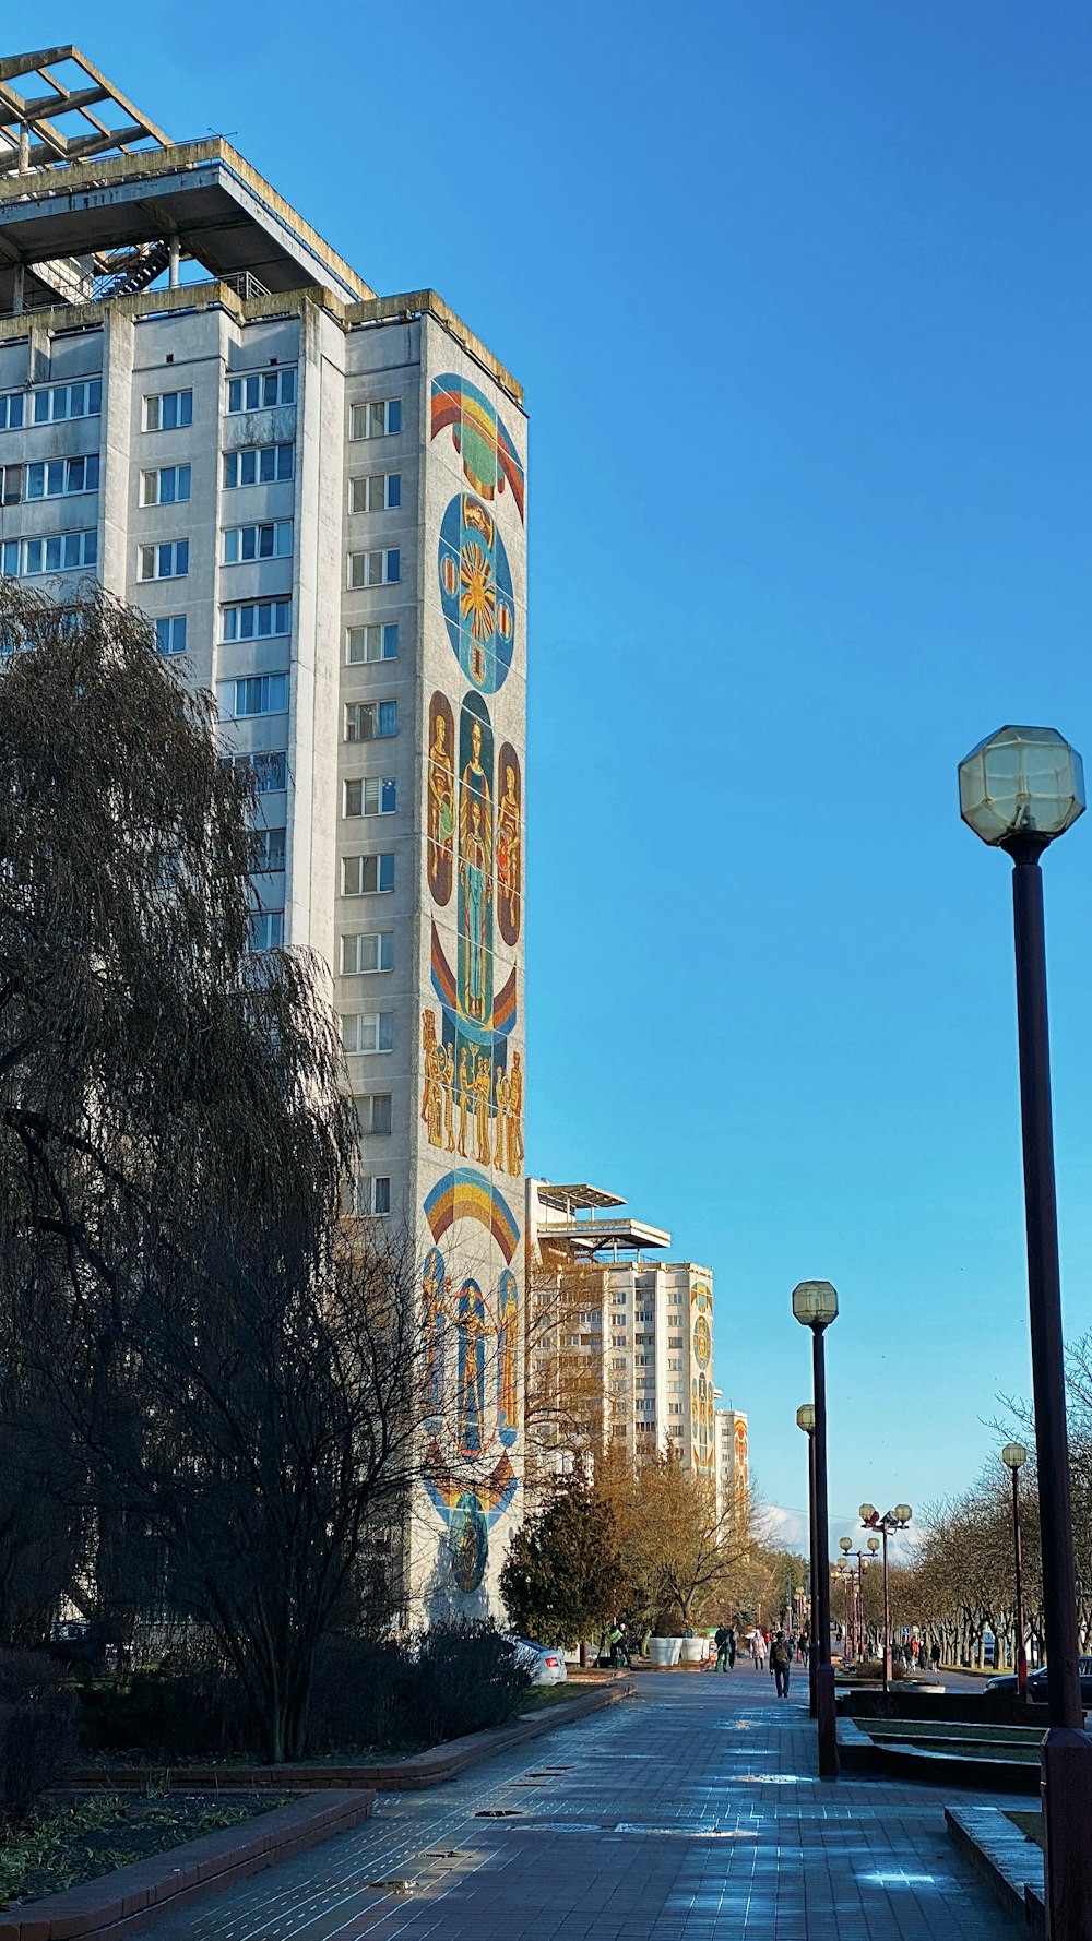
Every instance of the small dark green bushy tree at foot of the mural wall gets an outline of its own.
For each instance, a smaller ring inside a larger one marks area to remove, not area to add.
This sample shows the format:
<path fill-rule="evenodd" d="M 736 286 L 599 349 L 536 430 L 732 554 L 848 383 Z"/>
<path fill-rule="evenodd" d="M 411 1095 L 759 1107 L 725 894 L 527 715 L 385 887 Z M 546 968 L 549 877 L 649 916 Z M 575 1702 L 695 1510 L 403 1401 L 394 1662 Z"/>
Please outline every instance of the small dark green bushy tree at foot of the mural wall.
<path fill-rule="evenodd" d="M 515 1531 L 501 1570 L 507 1613 L 529 1638 L 575 1646 L 626 1603 L 610 1506 L 579 1477 Z"/>

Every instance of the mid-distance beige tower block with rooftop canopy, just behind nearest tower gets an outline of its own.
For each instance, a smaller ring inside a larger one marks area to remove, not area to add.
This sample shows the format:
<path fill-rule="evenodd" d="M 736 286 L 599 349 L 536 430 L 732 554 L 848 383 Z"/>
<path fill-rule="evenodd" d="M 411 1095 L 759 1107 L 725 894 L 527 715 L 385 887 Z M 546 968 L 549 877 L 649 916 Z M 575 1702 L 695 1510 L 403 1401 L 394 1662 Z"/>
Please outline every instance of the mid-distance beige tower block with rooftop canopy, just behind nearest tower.
<path fill-rule="evenodd" d="M 668 1450 L 715 1479 L 713 1273 L 649 1260 L 670 1234 L 597 1186 L 527 1182 L 529 1452 Z"/>

